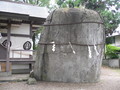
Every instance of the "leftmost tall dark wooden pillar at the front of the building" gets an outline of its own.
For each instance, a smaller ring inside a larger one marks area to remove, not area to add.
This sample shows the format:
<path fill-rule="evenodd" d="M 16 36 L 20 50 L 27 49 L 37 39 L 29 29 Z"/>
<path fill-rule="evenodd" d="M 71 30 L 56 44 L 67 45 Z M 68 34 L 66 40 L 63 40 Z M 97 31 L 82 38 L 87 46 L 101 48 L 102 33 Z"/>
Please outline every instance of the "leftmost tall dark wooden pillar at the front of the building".
<path fill-rule="evenodd" d="M 11 33 L 11 23 L 8 22 L 8 29 L 7 29 L 7 61 L 6 61 L 6 71 L 10 71 L 10 33 Z"/>

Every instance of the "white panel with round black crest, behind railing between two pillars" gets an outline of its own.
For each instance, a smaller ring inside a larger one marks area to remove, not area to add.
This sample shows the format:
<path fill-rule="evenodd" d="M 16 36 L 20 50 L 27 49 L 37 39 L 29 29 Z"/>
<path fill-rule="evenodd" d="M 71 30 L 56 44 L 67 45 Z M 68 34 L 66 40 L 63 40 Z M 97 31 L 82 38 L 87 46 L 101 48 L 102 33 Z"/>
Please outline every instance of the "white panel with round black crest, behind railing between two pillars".
<path fill-rule="evenodd" d="M 13 52 L 12 50 L 24 50 L 23 49 L 23 45 L 26 41 L 30 41 L 31 44 L 33 45 L 32 39 L 27 38 L 27 37 L 11 37 L 11 42 L 12 42 L 12 46 L 10 48 L 11 52 L 10 52 L 10 57 L 13 57 Z M 31 47 L 32 50 L 32 47 Z M 20 54 L 22 53 L 22 55 L 20 56 Z M 14 58 L 29 58 L 30 55 L 32 55 L 32 51 L 15 51 L 14 52 Z"/>

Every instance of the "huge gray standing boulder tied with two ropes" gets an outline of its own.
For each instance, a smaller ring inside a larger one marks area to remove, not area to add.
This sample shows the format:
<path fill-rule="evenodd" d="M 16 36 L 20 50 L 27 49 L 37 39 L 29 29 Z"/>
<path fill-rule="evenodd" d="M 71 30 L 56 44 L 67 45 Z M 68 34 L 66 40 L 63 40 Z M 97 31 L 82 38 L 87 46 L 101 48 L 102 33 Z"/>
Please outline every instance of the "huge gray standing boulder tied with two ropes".
<path fill-rule="evenodd" d="M 77 22 L 102 22 L 99 14 L 88 9 L 58 9 L 53 11 L 45 24 L 69 24 Z M 104 49 L 103 25 L 98 23 L 79 23 L 70 25 L 45 26 L 36 54 L 34 75 L 37 80 L 58 82 L 97 82 Z M 69 45 L 71 42 L 72 47 Z M 65 44 L 66 43 L 66 44 Z M 76 44 L 73 44 L 76 43 Z M 59 44 L 59 45 L 58 45 Z M 79 45 L 84 44 L 85 46 Z M 94 46 L 90 46 L 92 58 L 89 58 L 88 46 L 97 45 L 99 55 Z"/>

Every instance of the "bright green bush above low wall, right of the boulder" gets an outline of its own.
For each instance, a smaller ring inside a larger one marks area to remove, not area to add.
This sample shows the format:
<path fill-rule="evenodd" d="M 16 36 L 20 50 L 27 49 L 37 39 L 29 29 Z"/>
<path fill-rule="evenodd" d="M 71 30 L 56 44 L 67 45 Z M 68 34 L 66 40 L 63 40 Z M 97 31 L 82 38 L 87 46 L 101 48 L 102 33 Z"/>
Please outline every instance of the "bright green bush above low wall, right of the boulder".
<path fill-rule="evenodd" d="M 105 55 L 107 59 L 117 59 L 119 58 L 118 52 L 120 52 L 120 47 L 106 45 Z"/>

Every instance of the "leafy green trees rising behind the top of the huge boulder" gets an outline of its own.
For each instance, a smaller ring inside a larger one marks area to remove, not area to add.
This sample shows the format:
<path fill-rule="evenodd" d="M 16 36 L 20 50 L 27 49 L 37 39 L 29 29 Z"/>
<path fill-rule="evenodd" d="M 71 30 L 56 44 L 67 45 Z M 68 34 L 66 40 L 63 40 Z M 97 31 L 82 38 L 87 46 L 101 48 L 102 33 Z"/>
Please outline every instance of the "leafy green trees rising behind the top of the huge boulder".
<path fill-rule="evenodd" d="M 56 3 L 59 8 L 85 7 L 96 10 L 103 17 L 106 36 L 111 35 L 120 24 L 119 0 L 56 0 Z"/>

